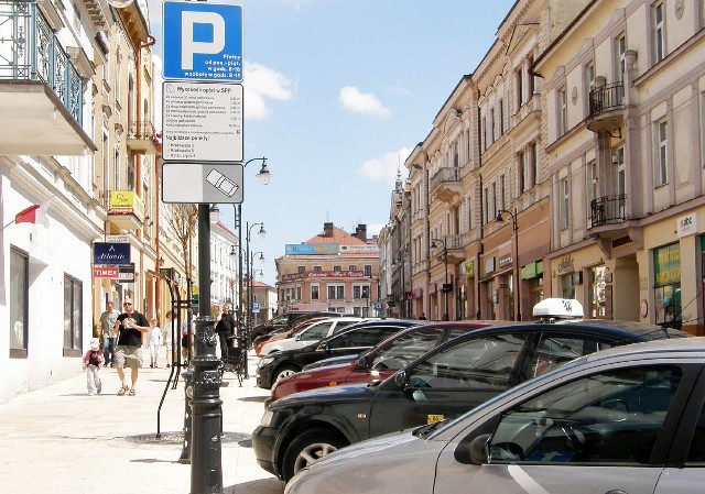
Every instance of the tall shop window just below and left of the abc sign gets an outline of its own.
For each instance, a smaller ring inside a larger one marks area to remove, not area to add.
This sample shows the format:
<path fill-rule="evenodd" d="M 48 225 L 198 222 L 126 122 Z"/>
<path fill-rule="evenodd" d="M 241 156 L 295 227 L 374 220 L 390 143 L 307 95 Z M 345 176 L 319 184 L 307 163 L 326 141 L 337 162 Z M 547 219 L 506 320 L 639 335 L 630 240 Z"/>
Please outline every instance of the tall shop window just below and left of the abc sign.
<path fill-rule="evenodd" d="M 653 251 L 655 322 L 681 327 L 681 250 L 672 243 Z"/>

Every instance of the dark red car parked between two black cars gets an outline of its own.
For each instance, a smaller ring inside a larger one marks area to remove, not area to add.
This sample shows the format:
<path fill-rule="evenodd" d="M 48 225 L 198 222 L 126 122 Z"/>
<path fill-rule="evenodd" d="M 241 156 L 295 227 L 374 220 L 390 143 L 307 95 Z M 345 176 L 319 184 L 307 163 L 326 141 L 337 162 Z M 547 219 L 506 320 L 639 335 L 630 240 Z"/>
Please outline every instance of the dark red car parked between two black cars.
<path fill-rule="evenodd" d="M 264 405 L 283 396 L 317 387 L 383 381 L 432 348 L 468 331 L 497 325 L 497 322 L 463 321 L 451 325 L 435 322 L 408 328 L 356 359 L 314 369 L 306 365 L 302 372 L 282 377 L 272 386 L 271 397 L 264 402 Z M 336 359 L 326 359 L 326 361 Z"/>

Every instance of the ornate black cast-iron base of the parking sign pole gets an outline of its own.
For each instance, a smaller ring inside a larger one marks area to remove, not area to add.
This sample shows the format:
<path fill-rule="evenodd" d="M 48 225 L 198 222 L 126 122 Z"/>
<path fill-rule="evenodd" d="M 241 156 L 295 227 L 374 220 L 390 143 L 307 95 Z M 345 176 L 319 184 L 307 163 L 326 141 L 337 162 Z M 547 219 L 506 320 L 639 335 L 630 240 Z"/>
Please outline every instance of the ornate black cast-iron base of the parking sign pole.
<path fill-rule="evenodd" d="M 191 494 L 215 494 L 223 493 L 220 359 L 216 355 L 215 319 L 199 316 L 195 322 Z"/>

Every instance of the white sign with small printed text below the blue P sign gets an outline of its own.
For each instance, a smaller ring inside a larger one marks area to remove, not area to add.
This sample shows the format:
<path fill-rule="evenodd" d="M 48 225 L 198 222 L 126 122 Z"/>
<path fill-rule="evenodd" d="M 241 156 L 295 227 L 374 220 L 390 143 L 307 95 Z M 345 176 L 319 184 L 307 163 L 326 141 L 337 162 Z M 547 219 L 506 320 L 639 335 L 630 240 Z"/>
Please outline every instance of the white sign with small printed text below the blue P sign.
<path fill-rule="evenodd" d="M 241 162 L 242 85 L 165 81 L 164 161 Z"/>

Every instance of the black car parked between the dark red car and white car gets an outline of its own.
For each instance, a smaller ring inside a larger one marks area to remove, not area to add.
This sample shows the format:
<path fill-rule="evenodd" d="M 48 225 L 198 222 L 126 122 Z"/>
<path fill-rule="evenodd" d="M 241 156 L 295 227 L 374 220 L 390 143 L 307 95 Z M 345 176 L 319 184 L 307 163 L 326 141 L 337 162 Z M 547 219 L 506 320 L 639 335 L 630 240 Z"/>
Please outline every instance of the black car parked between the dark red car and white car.
<path fill-rule="evenodd" d="M 262 356 L 257 365 L 257 385 L 269 389 L 280 377 L 300 372 L 304 365 L 338 355 L 358 355 L 419 321 L 408 319 L 382 319 L 349 326 L 307 347 L 276 352 Z"/>

